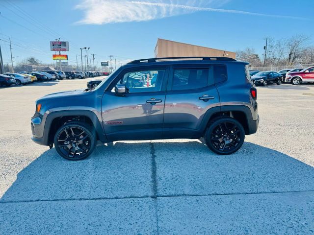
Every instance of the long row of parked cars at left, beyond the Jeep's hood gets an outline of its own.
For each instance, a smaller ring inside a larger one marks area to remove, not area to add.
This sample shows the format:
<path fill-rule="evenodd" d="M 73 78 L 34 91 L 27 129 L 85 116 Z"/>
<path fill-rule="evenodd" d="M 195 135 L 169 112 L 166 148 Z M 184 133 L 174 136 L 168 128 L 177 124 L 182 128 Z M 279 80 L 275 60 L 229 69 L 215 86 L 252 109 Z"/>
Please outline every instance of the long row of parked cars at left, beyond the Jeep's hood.
<path fill-rule="evenodd" d="M 33 82 L 54 81 L 67 79 L 83 79 L 86 77 L 96 77 L 109 75 L 103 71 L 74 72 L 74 71 L 21 71 L 18 73 L 5 72 L 0 74 L 0 86 L 9 87 L 11 85 L 26 85 Z"/>

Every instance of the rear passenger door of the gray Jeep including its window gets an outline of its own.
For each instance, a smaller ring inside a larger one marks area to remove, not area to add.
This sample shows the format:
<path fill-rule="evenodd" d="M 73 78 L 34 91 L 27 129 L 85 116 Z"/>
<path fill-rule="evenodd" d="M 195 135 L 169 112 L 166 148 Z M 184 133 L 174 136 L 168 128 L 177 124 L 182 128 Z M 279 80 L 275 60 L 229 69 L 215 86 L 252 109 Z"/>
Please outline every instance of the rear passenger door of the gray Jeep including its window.
<path fill-rule="evenodd" d="M 220 105 L 210 65 L 175 65 L 169 71 L 163 138 L 192 138 L 202 118 Z"/>

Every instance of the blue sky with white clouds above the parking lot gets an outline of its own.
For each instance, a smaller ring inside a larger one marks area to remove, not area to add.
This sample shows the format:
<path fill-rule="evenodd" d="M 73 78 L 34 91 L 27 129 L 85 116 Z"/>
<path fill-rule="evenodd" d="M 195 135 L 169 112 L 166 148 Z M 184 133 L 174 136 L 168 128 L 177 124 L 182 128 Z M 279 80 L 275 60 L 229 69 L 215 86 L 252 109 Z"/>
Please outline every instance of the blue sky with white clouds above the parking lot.
<path fill-rule="evenodd" d="M 73 64 L 79 47 L 99 63 L 110 54 L 122 63 L 154 57 L 157 38 L 262 54 L 266 36 L 304 34 L 314 44 L 313 10 L 313 0 L 0 0 L 0 45 L 10 62 L 11 37 L 15 63 L 52 63 L 56 38 L 69 41 Z"/>

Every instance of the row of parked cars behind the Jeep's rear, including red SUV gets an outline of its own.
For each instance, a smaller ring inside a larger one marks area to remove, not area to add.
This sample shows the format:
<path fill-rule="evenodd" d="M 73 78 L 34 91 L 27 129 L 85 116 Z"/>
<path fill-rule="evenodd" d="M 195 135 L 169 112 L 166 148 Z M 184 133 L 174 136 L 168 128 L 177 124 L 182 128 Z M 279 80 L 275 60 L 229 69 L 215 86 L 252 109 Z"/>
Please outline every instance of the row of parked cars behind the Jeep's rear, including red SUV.
<path fill-rule="evenodd" d="M 301 83 L 314 83 L 314 67 L 286 69 L 281 71 L 258 71 L 250 70 L 250 76 L 255 85 L 267 86 L 267 84 L 276 83 L 291 83 L 299 85 Z"/>

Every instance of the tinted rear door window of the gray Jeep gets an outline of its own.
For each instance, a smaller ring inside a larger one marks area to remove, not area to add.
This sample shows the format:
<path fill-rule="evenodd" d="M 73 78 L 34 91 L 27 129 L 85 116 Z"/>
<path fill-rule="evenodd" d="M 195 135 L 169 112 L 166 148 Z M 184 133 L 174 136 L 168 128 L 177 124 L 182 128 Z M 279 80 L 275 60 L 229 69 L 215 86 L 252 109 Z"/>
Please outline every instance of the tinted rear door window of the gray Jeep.
<path fill-rule="evenodd" d="M 207 87 L 209 84 L 209 69 L 174 69 L 172 91 L 192 90 Z"/>

